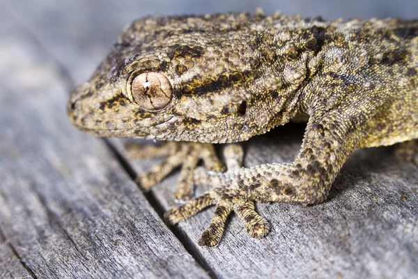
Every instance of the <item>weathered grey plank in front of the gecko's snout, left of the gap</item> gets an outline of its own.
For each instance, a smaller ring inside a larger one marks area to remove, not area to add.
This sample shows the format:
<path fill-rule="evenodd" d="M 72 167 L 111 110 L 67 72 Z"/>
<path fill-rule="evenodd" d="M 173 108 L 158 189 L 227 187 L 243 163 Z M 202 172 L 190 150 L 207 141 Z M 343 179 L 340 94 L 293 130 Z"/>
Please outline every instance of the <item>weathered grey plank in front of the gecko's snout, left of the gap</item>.
<path fill-rule="evenodd" d="M 106 144 L 71 126 L 54 63 L 0 18 L 1 245 L 37 278 L 208 278 Z"/>

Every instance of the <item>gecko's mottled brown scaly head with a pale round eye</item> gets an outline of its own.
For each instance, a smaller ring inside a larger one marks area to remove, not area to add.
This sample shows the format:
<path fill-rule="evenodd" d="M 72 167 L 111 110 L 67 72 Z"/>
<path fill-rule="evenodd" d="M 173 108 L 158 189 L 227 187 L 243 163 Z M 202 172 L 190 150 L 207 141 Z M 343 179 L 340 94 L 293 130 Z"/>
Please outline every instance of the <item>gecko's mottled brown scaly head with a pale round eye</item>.
<path fill-rule="evenodd" d="M 274 39 L 251 31 L 254 18 L 230 15 L 133 22 L 72 91 L 72 123 L 99 136 L 212 143 L 286 123 L 305 63 L 277 62 Z"/>

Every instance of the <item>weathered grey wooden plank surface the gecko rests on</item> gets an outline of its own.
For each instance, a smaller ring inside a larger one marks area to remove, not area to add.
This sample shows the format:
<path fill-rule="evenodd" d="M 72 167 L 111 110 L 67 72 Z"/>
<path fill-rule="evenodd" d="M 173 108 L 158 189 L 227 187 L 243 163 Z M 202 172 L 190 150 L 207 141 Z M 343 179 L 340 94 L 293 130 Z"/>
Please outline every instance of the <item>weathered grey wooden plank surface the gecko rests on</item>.
<path fill-rule="evenodd" d="M 257 204 L 265 239 L 231 216 L 219 246 L 196 246 L 213 208 L 164 225 L 178 173 L 144 195 L 132 176 L 157 160 L 129 160 L 122 140 L 85 135 L 65 115 L 70 89 L 139 16 L 122 2 L 0 3 L 0 278 L 417 276 L 418 167 L 392 147 L 354 153 L 323 204 Z M 251 139 L 245 165 L 291 162 L 303 130 Z"/>

